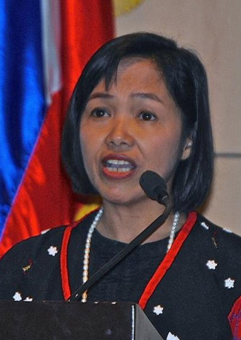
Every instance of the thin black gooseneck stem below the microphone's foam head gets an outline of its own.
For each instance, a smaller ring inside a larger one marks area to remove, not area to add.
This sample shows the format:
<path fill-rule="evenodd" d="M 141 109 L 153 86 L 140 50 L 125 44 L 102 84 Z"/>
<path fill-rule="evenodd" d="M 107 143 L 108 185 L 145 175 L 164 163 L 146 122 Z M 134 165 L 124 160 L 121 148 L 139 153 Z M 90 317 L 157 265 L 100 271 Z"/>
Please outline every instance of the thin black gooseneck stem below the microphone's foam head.
<path fill-rule="evenodd" d="M 81 285 L 70 297 L 67 299 L 67 302 L 70 301 L 77 301 L 82 297 L 82 294 L 88 290 L 91 285 L 93 285 L 97 280 L 99 280 L 103 275 L 105 275 L 108 271 L 113 268 L 113 266 L 116 266 L 118 262 L 120 262 L 122 259 L 124 259 L 125 256 L 130 254 L 130 251 L 133 251 L 136 246 L 139 244 L 142 244 L 142 242 L 149 237 L 152 232 L 155 232 L 155 230 L 159 227 L 159 225 L 162 225 L 162 223 L 167 220 L 167 217 L 169 213 L 172 210 L 172 205 L 169 203 L 168 197 L 162 199 L 162 203 L 166 205 L 166 208 L 162 215 L 157 217 L 155 221 L 153 221 L 147 228 L 145 228 L 140 234 L 138 234 L 133 241 L 131 241 L 125 248 L 118 252 L 113 258 L 108 261 L 106 264 L 104 264 L 96 273 L 94 273 L 89 280 L 87 280 L 83 285 Z"/>

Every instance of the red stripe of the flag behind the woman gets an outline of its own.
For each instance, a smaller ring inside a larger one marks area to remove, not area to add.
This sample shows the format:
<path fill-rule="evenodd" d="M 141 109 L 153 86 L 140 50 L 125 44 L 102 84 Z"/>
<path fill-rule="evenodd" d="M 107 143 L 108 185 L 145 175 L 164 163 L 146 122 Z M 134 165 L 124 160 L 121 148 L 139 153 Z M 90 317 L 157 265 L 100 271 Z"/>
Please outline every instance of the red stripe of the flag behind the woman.
<path fill-rule="evenodd" d="M 69 97 L 89 57 L 113 38 L 111 0 L 60 0 L 62 90 L 52 97 L 38 142 L 6 220 L 0 255 L 41 230 L 65 225 L 79 206 L 60 161 L 60 136 Z"/>

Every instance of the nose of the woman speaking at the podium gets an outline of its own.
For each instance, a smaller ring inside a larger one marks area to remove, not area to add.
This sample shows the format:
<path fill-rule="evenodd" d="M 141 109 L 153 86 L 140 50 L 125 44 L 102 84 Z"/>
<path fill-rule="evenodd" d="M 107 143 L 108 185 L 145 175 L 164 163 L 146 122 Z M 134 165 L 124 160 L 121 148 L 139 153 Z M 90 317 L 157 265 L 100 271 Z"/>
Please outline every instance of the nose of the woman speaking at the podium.
<path fill-rule="evenodd" d="M 124 119 L 113 120 L 106 144 L 116 151 L 125 151 L 135 143 L 135 134 L 132 124 Z"/>

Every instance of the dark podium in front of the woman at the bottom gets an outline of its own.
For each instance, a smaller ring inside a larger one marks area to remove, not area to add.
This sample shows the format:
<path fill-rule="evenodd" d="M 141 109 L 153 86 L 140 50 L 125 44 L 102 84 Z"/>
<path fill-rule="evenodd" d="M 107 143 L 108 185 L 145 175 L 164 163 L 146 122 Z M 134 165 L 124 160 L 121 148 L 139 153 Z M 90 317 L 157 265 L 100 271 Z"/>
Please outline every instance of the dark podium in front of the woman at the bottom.
<path fill-rule="evenodd" d="M 0 301 L 4 340 L 163 340 L 130 302 Z"/>

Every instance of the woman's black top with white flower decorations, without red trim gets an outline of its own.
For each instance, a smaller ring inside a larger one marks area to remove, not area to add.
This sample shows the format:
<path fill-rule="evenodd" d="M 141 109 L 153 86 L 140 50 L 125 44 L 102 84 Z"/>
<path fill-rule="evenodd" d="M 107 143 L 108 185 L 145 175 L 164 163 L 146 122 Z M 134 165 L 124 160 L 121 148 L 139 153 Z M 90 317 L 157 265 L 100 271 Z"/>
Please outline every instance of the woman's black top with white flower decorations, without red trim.
<path fill-rule="evenodd" d="M 82 283 L 86 235 L 95 215 L 74 227 L 69 239 L 67 263 L 72 293 Z M 65 229 L 51 229 L 13 246 L 0 261 L 0 299 L 64 300 L 60 250 Z M 138 302 L 164 259 L 167 242 L 163 239 L 138 246 L 90 288 L 87 301 Z M 95 230 L 90 275 L 124 246 Z M 241 238 L 199 215 L 148 300 L 144 310 L 147 317 L 167 340 L 231 339 L 228 314 L 241 294 L 240 263 Z"/>

